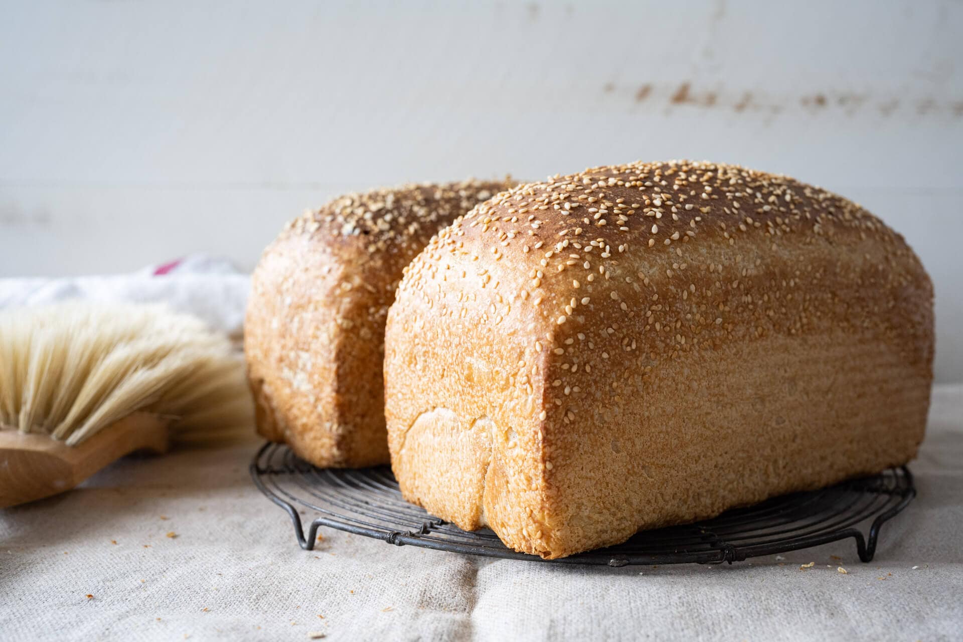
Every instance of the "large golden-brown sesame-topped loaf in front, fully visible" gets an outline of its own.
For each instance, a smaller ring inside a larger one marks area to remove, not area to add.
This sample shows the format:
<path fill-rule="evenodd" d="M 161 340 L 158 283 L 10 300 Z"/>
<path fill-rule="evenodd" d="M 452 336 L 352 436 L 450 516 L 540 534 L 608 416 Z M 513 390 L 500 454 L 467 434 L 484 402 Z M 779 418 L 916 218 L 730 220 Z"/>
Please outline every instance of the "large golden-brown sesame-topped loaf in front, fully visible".
<path fill-rule="evenodd" d="M 434 237 L 388 314 L 404 497 L 560 557 L 912 458 L 933 292 L 903 239 L 709 163 L 520 185 Z"/>

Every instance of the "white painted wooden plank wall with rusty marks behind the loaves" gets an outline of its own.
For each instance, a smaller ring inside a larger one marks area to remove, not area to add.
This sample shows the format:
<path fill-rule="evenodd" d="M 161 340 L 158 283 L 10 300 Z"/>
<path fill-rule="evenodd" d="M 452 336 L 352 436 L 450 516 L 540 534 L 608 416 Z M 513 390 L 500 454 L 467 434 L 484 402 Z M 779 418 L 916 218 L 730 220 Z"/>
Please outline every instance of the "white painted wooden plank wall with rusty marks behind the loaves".
<path fill-rule="evenodd" d="M 635 159 L 901 231 L 963 378 L 963 3 L 0 1 L 0 275 L 249 269 L 346 190 Z"/>

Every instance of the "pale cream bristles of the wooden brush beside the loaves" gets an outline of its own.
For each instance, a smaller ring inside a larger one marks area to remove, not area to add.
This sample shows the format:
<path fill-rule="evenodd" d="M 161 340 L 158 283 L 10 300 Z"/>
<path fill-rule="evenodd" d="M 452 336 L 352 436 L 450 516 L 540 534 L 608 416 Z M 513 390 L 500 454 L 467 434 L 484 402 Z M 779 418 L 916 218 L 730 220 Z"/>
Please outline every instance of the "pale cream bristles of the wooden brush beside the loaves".
<path fill-rule="evenodd" d="M 224 335 L 160 305 L 0 313 L 0 427 L 76 446 L 138 411 L 169 417 L 175 441 L 249 427 L 244 360 Z"/>

